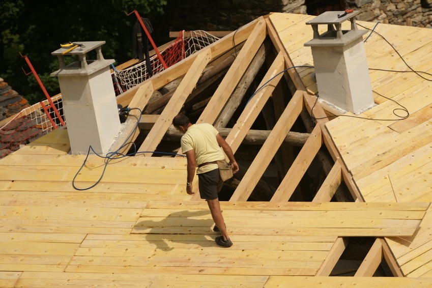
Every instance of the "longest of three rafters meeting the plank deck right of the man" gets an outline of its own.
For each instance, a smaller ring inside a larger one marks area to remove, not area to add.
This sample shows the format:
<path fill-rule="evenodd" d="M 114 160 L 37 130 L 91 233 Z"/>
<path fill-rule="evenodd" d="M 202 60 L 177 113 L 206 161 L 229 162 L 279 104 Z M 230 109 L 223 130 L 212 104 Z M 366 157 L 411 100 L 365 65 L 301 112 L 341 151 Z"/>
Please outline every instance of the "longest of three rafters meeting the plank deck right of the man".
<path fill-rule="evenodd" d="M 239 187 L 234 191 L 234 194 L 230 199 L 231 201 L 246 201 L 248 199 L 253 188 L 258 180 L 263 176 L 264 171 L 267 169 L 270 161 L 279 149 L 283 139 L 294 125 L 294 122 L 297 120 L 302 109 L 303 96 L 301 92 L 298 92 L 294 94 L 293 99 L 288 103 L 282 116 L 279 118 L 279 121 L 270 132 L 269 137 L 260 152 L 256 155 Z"/>

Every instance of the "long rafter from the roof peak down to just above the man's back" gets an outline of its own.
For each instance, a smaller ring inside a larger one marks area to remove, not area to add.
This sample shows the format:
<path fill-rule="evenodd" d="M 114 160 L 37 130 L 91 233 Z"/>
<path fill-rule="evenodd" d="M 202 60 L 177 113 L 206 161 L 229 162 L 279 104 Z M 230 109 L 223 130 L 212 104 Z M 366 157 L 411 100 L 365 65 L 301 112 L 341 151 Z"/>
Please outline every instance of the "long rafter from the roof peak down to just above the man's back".
<path fill-rule="evenodd" d="M 237 87 L 239 80 L 266 38 L 266 31 L 266 22 L 261 18 L 261 20 L 255 24 L 242 50 L 239 52 L 236 60 L 234 60 L 196 123 L 215 123 L 220 111 L 222 111 L 229 96 L 231 96 L 234 89 Z M 236 41 L 238 40 L 236 39 Z"/>

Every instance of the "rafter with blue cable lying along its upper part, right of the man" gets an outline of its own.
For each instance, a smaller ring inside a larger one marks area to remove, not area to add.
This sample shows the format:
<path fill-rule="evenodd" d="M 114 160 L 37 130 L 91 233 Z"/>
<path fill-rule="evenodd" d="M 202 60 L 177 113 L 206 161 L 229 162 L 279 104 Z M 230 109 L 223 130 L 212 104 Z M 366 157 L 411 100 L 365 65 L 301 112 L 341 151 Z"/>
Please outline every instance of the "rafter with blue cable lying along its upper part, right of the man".
<path fill-rule="evenodd" d="M 258 90 L 255 91 L 253 97 L 249 100 L 246 107 L 243 109 L 237 123 L 234 125 L 231 133 L 226 136 L 226 142 L 234 152 L 237 151 L 246 134 L 248 133 L 253 122 L 255 122 L 258 114 L 260 114 L 267 100 L 269 99 L 274 87 L 282 77 L 282 71 L 284 69 L 283 57 L 279 54 L 273 61 L 272 66 L 267 71 L 266 75 L 258 86 Z M 265 85 L 265 83 L 267 85 Z"/>

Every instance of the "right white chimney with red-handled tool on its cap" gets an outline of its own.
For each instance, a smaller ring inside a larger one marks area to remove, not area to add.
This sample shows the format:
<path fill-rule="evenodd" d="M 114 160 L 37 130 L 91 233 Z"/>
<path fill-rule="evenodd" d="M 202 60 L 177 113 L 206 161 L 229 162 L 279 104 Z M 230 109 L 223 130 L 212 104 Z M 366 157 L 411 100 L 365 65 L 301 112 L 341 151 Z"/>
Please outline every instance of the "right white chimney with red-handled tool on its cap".
<path fill-rule="evenodd" d="M 367 31 L 358 30 L 358 13 L 328 11 L 306 22 L 313 39 L 304 44 L 312 50 L 319 99 L 355 114 L 375 105 L 362 37 Z M 346 20 L 351 30 L 342 30 Z M 327 31 L 320 35 L 318 25 L 326 25 Z"/>

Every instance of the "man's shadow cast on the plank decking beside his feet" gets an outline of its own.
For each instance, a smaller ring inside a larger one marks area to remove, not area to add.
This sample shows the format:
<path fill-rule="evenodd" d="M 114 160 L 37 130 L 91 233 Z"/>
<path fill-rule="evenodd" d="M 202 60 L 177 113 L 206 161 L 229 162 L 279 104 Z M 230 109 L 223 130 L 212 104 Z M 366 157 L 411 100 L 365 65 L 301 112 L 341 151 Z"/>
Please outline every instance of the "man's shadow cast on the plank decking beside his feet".
<path fill-rule="evenodd" d="M 140 219 L 132 233 L 146 234 L 147 241 L 156 245 L 157 249 L 171 251 L 176 246 L 179 247 L 175 243 L 214 246 L 214 239 L 209 241 L 209 234 L 216 235 L 211 229 L 214 222 L 209 210 L 184 210 L 167 216 L 149 215 Z M 174 244 L 174 247 L 169 243 Z"/>

